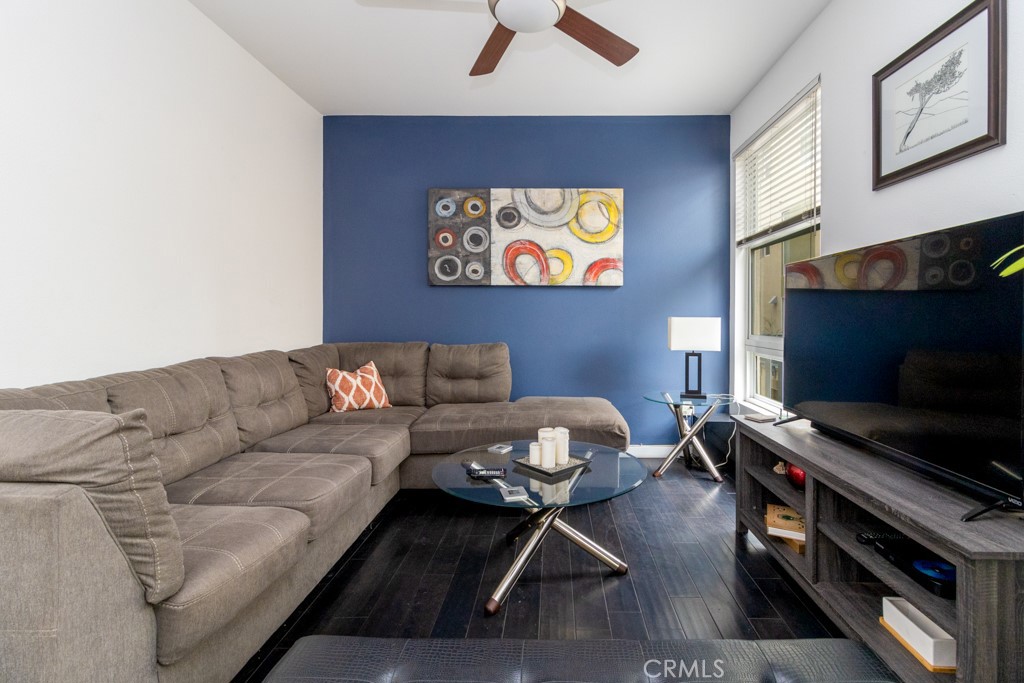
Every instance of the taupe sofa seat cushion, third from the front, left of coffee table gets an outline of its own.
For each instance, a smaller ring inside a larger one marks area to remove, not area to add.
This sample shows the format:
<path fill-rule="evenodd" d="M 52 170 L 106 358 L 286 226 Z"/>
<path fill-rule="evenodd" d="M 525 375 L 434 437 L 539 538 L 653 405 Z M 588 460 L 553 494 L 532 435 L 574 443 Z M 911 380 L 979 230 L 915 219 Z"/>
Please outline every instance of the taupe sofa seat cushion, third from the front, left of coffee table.
<path fill-rule="evenodd" d="M 409 430 L 401 426 L 302 425 L 260 441 L 252 450 L 362 456 L 370 461 L 370 481 L 376 485 L 409 457 Z"/>

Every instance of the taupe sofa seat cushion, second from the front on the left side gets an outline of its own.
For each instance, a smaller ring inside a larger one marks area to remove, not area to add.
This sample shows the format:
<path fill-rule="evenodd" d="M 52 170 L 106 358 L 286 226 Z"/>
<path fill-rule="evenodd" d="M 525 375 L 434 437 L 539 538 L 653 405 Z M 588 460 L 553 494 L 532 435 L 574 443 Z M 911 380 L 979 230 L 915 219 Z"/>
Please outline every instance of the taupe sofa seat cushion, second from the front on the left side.
<path fill-rule="evenodd" d="M 331 453 L 242 453 L 167 486 L 182 505 L 269 506 L 309 518 L 319 538 L 370 489 L 370 461 Z"/>

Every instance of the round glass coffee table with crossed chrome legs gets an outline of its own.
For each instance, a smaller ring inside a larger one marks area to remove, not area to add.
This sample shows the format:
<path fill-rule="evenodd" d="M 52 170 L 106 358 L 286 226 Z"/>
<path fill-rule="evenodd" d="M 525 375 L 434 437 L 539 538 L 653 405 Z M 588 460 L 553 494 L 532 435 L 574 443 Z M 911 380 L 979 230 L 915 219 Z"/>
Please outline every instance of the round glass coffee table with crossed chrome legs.
<path fill-rule="evenodd" d="M 596 443 L 569 441 L 569 456 L 588 461 L 579 469 L 561 475 L 547 476 L 516 463 L 519 458 L 529 455 L 529 441 L 506 441 L 512 451 L 496 454 L 488 451 L 494 443 L 467 449 L 456 454 L 459 462 L 439 463 L 434 466 L 433 479 L 437 486 L 452 496 L 473 503 L 494 505 L 502 508 L 520 508 L 528 516 L 506 535 L 512 545 L 516 540 L 532 529 L 532 533 L 516 555 L 512 566 L 505 573 L 490 599 L 484 605 L 487 614 L 501 609 L 509 591 L 522 575 L 523 569 L 537 554 L 541 543 L 551 529 L 564 536 L 588 553 L 601 560 L 616 573 L 624 574 L 629 566 L 613 554 L 597 545 L 572 528 L 558 516 L 562 510 L 577 505 L 588 505 L 607 501 L 629 493 L 647 478 L 647 468 L 628 453 Z M 462 462 L 475 462 L 482 467 L 504 467 L 506 476 L 489 481 L 474 479 L 467 473 Z M 522 501 L 506 501 L 502 488 L 522 486 L 528 498 Z"/>

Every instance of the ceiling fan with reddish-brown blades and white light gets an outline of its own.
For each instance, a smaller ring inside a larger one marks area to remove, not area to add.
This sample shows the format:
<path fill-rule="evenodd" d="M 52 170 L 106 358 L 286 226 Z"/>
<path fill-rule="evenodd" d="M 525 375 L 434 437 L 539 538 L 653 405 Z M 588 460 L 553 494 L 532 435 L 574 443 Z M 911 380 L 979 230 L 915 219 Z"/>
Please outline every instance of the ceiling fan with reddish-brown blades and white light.
<path fill-rule="evenodd" d="M 536 33 L 554 27 L 622 67 L 640 51 L 604 27 L 565 5 L 565 0 L 487 0 L 490 13 L 498 19 L 490 38 L 470 70 L 470 76 L 495 71 L 509 43 L 517 33 Z"/>

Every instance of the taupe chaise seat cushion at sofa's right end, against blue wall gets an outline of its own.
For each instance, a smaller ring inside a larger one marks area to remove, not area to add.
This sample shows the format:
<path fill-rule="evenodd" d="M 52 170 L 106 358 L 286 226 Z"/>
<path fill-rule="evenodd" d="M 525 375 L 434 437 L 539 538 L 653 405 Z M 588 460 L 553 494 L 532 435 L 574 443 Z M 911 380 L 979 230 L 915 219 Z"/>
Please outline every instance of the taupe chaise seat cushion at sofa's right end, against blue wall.
<path fill-rule="evenodd" d="M 514 403 L 434 405 L 410 427 L 413 454 L 456 453 L 474 445 L 537 439 L 541 427 L 566 427 L 575 441 L 629 446 L 629 428 L 604 398 L 519 399 Z"/>

